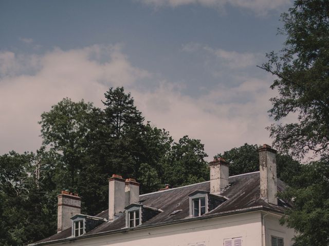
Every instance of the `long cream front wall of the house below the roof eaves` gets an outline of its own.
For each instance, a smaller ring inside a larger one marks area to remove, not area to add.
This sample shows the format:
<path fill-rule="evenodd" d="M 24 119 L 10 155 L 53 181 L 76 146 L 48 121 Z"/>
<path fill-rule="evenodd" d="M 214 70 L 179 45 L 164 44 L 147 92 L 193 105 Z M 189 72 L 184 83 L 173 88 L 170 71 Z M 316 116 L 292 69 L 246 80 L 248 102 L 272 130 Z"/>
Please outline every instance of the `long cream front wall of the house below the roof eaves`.
<path fill-rule="evenodd" d="M 243 237 L 242 246 L 262 245 L 260 212 L 250 212 L 68 242 L 70 246 L 222 246 L 225 238 Z"/>

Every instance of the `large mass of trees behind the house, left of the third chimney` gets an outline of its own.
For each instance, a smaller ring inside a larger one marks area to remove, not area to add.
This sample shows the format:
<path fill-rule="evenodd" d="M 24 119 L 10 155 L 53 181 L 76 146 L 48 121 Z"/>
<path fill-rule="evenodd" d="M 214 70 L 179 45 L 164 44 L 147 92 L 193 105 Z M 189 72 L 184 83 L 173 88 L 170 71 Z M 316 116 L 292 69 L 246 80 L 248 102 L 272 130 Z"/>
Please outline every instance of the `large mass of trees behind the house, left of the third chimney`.
<path fill-rule="evenodd" d="M 165 129 L 144 122 L 122 87 L 104 95 L 103 109 L 64 98 L 41 115 L 40 150 L 0 156 L 1 245 L 56 233 L 61 190 L 78 193 L 82 213 L 95 215 L 108 206 L 108 177 L 114 173 L 136 178 L 141 193 L 208 178 L 199 140 L 184 136 L 174 142 Z"/>

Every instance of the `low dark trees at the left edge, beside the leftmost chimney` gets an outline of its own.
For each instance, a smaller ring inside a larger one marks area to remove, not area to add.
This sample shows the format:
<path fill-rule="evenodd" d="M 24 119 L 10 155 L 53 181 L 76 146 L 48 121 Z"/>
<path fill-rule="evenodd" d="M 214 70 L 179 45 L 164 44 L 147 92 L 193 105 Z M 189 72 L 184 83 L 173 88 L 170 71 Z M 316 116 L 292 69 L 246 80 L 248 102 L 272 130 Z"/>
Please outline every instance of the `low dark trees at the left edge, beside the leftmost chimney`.
<path fill-rule="evenodd" d="M 38 157 L 13 151 L 0 156 L 1 245 L 32 243 L 56 231 L 53 187 L 43 178 L 36 179 L 34 172 L 37 160 L 45 163 L 48 157 L 43 150 Z"/>

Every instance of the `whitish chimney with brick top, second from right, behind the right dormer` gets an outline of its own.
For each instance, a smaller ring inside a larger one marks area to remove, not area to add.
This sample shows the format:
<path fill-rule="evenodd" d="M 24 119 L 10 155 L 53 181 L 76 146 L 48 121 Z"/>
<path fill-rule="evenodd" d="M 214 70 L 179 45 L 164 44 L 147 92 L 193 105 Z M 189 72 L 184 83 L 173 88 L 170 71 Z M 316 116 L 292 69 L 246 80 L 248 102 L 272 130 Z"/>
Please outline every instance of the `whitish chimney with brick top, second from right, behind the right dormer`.
<path fill-rule="evenodd" d="M 220 194 L 228 186 L 229 163 L 224 158 L 215 158 L 209 162 L 210 193 Z"/>

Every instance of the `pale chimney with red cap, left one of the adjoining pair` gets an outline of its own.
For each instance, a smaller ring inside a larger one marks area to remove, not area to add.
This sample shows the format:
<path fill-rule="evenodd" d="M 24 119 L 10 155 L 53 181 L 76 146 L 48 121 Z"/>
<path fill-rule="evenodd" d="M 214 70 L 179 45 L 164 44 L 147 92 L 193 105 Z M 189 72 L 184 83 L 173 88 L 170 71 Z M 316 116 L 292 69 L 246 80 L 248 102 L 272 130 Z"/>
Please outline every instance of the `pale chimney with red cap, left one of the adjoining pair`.
<path fill-rule="evenodd" d="M 108 179 L 108 220 L 115 220 L 124 211 L 125 192 L 124 179 L 117 174 L 113 174 Z"/>

